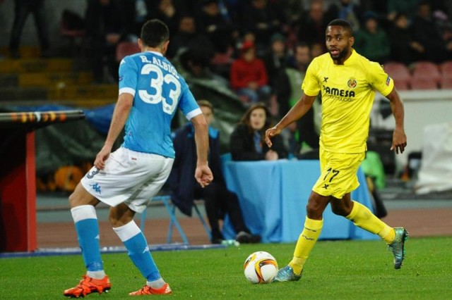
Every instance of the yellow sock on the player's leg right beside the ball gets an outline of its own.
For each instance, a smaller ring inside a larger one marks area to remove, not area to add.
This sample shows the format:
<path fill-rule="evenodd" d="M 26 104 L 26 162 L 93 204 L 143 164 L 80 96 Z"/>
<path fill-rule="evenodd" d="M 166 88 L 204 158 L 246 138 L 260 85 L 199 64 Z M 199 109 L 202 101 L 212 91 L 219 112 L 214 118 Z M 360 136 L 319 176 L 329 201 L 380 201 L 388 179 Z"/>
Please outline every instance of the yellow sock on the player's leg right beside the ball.
<path fill-rule="evenodd" d="M 296 275 L 302 273 L 303 265 L 316 244 L 317 239 L 319 239 L 322 226 L 323 220 L 312 220 L 306 217 L 304 229 L 301 235 L 299 235 L 297 246 L 295 246 L 294 257 L 289 263 Z"/>

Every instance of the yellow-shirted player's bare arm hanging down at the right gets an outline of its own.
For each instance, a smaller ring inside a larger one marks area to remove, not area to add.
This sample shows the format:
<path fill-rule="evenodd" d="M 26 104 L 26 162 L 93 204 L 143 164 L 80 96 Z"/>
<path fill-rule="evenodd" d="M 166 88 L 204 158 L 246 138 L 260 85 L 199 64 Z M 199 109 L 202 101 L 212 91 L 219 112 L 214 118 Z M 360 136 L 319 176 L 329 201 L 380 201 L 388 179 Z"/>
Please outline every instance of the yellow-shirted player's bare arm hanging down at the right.
<path fill-rule="evenodd" d="M 391 103 L 391 111 L 396 119 L 396 127 L 393 132 L 393 144 L 391 151 L 396 150 L 396 154 L 403 154 L 405 147 L 407 146 L 407 136 L 405 135 L 405 129 L 403 127 L 403 118 L 405 112 L 403 110 L 403 102 L 398 95 L 396 88 L 393 88 L 391 93 L 386 96 Z"/>

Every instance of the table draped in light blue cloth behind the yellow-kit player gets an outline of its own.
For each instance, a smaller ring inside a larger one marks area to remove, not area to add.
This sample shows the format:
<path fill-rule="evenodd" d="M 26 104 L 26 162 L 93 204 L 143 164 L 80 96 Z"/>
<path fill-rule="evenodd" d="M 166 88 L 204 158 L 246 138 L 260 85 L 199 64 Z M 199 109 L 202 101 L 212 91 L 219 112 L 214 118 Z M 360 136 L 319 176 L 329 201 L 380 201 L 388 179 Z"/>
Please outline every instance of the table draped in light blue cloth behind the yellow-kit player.
<path fill-rule="evenodd" d="M 295 242 L 302 232 L 306 205 L 320 175 L 318 160 L 227 161 L 223 165 L 227 187 L 237 193 L 246 225 L 260 234 L 262 242 Z M 366 179 L 358 171 L 360 186 L 352 199 L 373 211 Z M 235 232 L 226 218 L 222 233 L 233 239 Z M 319 239 L 379 239 L 350 220 L 331 212 L 323 213 Z"/>

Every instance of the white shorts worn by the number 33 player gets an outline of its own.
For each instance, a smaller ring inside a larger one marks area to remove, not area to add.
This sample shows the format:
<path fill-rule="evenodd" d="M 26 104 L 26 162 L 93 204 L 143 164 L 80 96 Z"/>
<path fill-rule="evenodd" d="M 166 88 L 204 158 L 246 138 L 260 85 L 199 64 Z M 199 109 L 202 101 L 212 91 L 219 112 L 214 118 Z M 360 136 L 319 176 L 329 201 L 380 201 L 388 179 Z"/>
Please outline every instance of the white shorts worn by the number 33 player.
<path fill-rule="evenodd" d="M 173 162 L 174 158 L 120 147 L 110 154 L 104 170 L 91 168 L 81 184 L 109 206 L 124 202 L 132 211 L 142 213 L 167 181 Z"/>

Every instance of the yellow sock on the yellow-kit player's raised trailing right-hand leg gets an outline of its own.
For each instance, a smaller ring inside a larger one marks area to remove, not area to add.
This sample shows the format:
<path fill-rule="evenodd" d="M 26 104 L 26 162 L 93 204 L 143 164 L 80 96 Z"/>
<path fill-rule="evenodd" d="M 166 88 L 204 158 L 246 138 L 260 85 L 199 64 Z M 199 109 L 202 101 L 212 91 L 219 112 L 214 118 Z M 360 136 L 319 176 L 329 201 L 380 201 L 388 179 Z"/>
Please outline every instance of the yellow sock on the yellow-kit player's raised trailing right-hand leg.
<path fill-rule="evenodd" d="M 345 218 L 351 220 L 358 227 L 379 235 L 387 244 L 391 244 L 396 237 L 396 232 L 394 232 L 392 227 L 376 218 L 369 208 L 357 201 L 353 201 L 352 212 Z"/>

